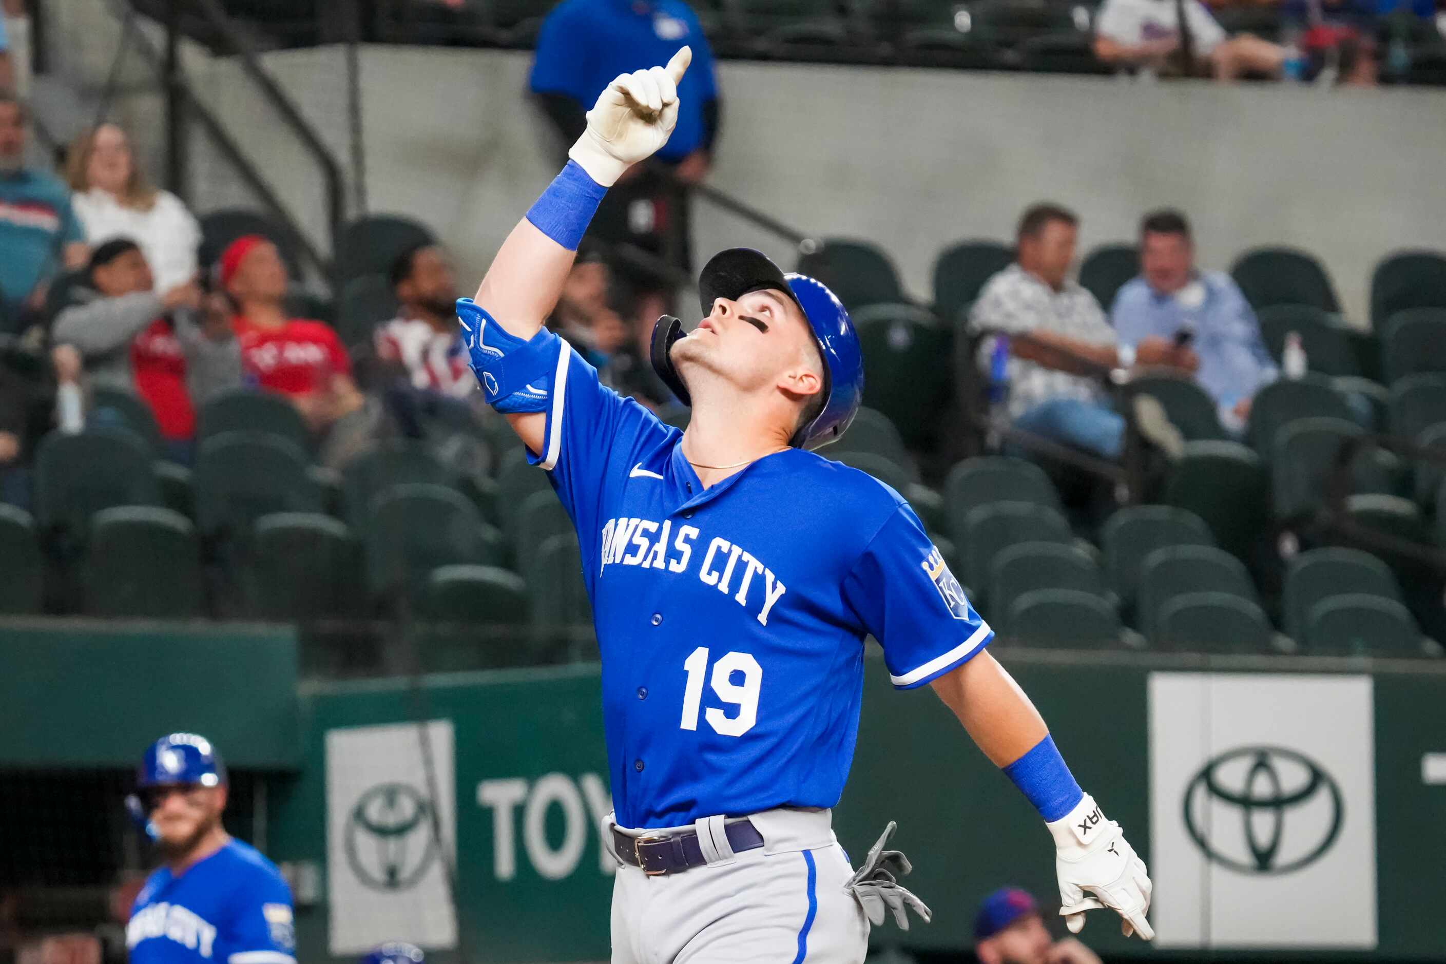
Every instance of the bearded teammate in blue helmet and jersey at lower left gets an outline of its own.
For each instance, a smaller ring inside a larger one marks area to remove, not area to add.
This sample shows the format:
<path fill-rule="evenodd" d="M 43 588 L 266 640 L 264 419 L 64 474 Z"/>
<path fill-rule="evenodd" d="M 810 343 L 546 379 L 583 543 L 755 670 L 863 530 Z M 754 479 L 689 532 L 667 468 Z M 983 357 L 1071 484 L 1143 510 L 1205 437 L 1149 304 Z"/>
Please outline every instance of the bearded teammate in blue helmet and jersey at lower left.
<path fill-rule="evenodd" d="M 130 964 L 296 964 L 291 889 L 221 827 L 226 767 L 191 733 L 156 740 L 127 801 L 165 863 L 136 895 Z"/>

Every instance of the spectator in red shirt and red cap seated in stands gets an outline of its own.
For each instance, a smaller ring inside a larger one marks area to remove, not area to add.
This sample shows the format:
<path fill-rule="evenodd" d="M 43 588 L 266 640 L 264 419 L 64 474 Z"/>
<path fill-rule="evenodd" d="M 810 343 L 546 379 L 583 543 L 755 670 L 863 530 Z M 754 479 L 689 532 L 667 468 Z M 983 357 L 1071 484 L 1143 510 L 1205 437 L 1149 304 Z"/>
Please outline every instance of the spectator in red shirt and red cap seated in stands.
<path fill-rule="evenodd" d="M 220 282 L 236 304 L 231 327 L 249 382 L 285 395 L 317 432 L 362 408 L 337 332 L 286 315 L 286 266 L 275 244 L 257 234 L 231 241 L 221 253 Z"/>

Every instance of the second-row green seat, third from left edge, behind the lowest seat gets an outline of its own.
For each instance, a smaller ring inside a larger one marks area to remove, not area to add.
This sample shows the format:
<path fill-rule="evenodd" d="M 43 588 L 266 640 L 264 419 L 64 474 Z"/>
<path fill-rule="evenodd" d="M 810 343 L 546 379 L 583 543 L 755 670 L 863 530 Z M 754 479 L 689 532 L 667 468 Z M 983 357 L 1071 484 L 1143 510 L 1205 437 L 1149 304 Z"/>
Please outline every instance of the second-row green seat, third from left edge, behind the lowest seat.
<path fill-rule="evenodd" d="M 364 532 L 367 587 L 379 600 L 422 598 L 441 565 L 502 564 L 502 538 L 477 507 L 442 486 L 406 483 L 377 493 Z"/>

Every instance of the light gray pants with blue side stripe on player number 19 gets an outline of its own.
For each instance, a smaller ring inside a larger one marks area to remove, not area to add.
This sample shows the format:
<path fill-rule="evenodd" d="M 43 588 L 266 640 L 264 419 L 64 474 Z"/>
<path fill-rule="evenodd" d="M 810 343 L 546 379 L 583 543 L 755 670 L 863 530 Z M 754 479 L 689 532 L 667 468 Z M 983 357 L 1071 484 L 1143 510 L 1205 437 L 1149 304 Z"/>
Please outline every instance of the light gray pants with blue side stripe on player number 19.
<path fill-rule="evenodd" d="M 774 809 L 749 819 L 763 845 L 739 854 L 729 848 L 722 817 L 688 827 L 617 828 L 633 837 L 696 831 L 709 863 L 658 877 L 617 869 L 613 964 L 863 961 L 869 921 L 844 890 L 853 869 L 833 835 L 830 811 Z M 615 825 L 609 814 L 606 840 Z"/>

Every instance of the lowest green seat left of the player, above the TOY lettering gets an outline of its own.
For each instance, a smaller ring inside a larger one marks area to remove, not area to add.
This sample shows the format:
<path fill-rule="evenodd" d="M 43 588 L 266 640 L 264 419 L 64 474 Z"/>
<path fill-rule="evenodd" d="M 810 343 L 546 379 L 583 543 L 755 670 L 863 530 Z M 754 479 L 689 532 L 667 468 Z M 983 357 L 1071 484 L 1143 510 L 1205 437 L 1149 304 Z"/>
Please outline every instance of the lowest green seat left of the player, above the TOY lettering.
<path fill-rule="evenodd" d="M 421 668 L 490 669 L 529 662 L 528 590 L 515 572 L 492 565 L 432 569 L 422 597 Z"/>

